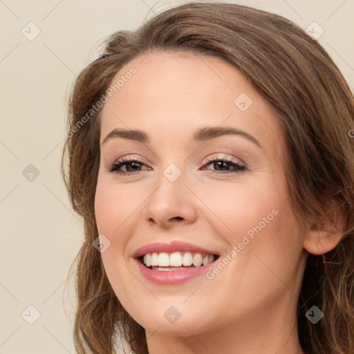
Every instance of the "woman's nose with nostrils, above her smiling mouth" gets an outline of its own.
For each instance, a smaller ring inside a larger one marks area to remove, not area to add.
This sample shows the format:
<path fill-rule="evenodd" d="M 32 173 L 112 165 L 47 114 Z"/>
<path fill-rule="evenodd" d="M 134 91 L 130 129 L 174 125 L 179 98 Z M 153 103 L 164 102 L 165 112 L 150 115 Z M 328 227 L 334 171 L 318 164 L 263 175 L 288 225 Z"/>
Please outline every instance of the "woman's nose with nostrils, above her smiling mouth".
<path fill-rule="evenodd" d="M 183 174 L 174 182 L 162 175 L 158 183 L 145 204 L 147 223 L 164 229 L 176 223 L 193 223 L 197 216 L 196 200 L 186 187 Z"/>

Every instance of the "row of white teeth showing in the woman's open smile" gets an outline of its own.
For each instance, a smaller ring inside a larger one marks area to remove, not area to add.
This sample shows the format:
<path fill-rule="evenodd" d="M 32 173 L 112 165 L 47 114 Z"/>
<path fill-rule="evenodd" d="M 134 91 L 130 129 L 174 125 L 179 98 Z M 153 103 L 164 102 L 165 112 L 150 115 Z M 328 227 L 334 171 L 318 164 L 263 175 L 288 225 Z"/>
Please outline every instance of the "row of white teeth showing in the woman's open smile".
<path fill-rule="evenodd" d="M 214 254 L 201 254 L 192 252 L 152 252 L 143 257 L 143 262 L 147 267 L 156 267 L 156 270 L 178 270 L 180 267 L 200 267 L 214 262 Z M 169 267 L 160 268 L 160 267 Z"/>

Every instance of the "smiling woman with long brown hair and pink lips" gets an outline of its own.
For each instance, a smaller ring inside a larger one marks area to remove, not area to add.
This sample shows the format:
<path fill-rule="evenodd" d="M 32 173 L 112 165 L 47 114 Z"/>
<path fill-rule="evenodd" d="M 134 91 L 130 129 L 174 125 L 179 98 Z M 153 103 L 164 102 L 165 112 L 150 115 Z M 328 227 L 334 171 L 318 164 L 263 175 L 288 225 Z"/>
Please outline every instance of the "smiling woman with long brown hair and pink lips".
<path fill-rule="evenodd" d="M 77 352 L 354 353 L 353 116 L 283 17 L 187 3 L 111 35 L 62 161 Z"/>

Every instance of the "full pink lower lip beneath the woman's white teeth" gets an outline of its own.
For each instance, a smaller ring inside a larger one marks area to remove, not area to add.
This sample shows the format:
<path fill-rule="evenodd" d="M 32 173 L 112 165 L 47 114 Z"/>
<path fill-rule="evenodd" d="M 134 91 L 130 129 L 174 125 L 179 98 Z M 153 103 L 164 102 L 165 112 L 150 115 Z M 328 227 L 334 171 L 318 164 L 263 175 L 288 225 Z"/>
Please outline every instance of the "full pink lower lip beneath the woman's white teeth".
<path fill-rule="evenodd" d="M 138 268 L 143 277 L 152 283 L 162 284 L 162 285 L 174 285 L 184 283 L 195 277 L 199 277 L 205 274 L 208 270 L 214 267 L 214 262 L 203 265 L 201 267 L 191 267 L 181 270 L 152 270 L 145 267 L 139 259 L 134 259 L 136 261 Z"/>

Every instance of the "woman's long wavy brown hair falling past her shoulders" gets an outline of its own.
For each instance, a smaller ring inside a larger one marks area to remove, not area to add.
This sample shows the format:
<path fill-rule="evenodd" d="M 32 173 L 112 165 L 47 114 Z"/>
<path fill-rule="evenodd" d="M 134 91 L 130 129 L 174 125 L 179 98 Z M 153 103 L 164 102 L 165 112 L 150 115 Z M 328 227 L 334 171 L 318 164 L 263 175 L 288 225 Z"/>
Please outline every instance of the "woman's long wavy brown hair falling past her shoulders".
<path fill-rule="evenodd" d="M 136 354 L 148 353 L 144 328 L 118 301 L 100 252 L 93 247 L 102 109 L 92 109 L 120 68 L 151 50 L 220 57 L 279 111 L 288 147 L 284 168 L 299 220 L 328 219 L 335 203 L 345 223 L 335 249 L 308 255 L 298 305 L 300 343 L 306 354 L 354 353 L 354 139 L 348 133 L 354 128 L 353 95 L 324 48 L 299 26 L 230 3 L 187 3 L 156 15 L 136 31 L 115 32 L 106 40 L 102 57 L 75 80 L 62 176 L 85 232 L 75 259 L 77 353 L 115 353 L 117 335 Z M 305 317 L 313 305 L 325 314 L 317 325 Z"/>

